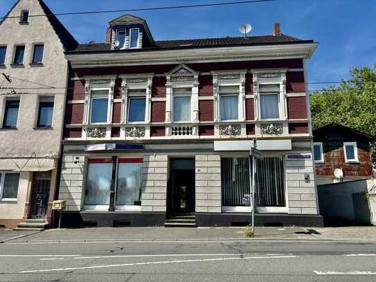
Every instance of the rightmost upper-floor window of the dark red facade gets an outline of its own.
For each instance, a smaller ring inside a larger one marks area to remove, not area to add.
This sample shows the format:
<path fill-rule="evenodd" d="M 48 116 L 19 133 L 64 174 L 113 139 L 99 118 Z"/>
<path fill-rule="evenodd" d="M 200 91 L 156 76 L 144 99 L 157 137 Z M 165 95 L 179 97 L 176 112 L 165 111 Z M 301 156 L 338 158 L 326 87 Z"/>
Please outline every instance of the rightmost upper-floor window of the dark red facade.
<path fill-rule="evenodd" d="M 260 85 L 260 112 L 262 119 L 278 119 L 279 85 Z"/>

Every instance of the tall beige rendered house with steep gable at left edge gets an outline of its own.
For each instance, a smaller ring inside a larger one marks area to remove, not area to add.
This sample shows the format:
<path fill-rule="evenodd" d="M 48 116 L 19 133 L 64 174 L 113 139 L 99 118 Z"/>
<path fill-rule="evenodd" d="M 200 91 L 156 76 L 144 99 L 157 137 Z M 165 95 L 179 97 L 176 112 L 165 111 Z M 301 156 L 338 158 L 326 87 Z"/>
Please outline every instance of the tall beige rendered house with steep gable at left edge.
<path fill-rule="evenodd" d="M 33 15 L 47 15 L 32 17 Z M 77 42 L 42 0 L 0 22 L 0 225 L 48 224 L 60 157 L 68 63 Z M 56 95 L 55 95 L 56 94 Z"/>

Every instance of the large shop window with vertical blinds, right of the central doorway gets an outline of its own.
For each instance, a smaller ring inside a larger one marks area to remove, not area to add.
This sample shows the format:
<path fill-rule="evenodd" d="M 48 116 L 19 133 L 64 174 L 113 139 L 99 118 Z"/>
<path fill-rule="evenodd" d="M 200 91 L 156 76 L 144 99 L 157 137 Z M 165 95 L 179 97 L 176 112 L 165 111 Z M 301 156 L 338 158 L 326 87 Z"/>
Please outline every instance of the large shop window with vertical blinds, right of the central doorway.
<path fill-rule="evenodd" d="M 285 206 L 285 170 L 283 157 L 257 161 L 257 206 Z M 222 206 L 251 206 L 249 158 L 221 159 Z"/>

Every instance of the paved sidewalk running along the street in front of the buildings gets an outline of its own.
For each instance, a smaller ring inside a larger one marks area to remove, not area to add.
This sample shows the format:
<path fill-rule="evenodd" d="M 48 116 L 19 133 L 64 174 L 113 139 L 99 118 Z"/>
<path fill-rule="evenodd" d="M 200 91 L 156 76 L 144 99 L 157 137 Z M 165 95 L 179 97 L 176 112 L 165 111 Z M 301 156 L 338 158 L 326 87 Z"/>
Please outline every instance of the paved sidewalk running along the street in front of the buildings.
<path fill-rule="evenodd" d="M 132 242 L 193 240 L 339 240 L 376 243 L 376 227 L 256 227 L 255 238 L 244 238 L 242 227 L 124 227 L 0 231 L 5 243 Z"/>

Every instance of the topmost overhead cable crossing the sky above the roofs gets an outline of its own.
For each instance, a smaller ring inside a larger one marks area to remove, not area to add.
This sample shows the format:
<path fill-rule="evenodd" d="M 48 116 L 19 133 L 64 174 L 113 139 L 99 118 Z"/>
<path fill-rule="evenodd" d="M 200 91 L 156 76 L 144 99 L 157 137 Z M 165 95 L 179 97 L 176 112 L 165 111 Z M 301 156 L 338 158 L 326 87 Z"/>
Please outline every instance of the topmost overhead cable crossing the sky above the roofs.
<path fill-rule="evenodd" d="M 173 9 L 186 9 L 186 8 L 204 8 L 213 6 L 229 6 L 229 5 L 240 5 L 247 3 L 262 3 L 262 2 L 272 2 L 277 0 L 252 0 L 252 1 L 235 1 L 235 2 L 222 2 L 222 3 L 206 3 L 206 4 L 196 4 L 196 5 L 183 5 L 183 6 L 165 6 L 165 7 L 151 7 L 151 8 L 134 8 L 134 9 L 123 9 L 123 10 L 101 10 L 101 11 L 87 11 L 87 12 L 57 12 L 52 14 L 44 15 L 29 15 L 29 17 L 46 17 L 46 16 L 65 16 L 65 15 L 89 15 L 89 14 L 108 14 L 114 12 L 140 12 L 140 11 L 150 11 L 150 10 L 173 10 Z M 0 17 L 0 19 L 14 19 L 19 18 L 13 17 Z"/>

